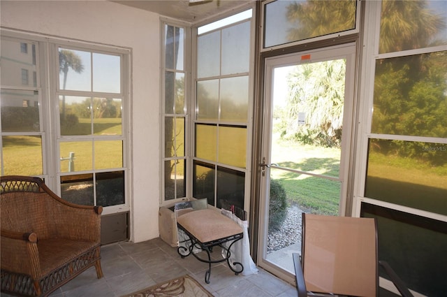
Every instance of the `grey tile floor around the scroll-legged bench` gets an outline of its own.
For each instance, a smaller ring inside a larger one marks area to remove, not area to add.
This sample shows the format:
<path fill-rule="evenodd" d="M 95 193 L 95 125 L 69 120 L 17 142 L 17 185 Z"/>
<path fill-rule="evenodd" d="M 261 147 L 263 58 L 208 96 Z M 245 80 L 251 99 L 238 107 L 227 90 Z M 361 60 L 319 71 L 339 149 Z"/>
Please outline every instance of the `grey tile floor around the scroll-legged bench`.
<path fill-rule="evenodd" d="M 217 255 L 217 250 L 213 254 Z M 120 242 L 101 249 L 104 277 L 89 268 L 50 297 L 120 297 L 153 284 L 189 274 L 217 297 L 296 297 L 295 287 L 259 269 L 254 275 L 235 275 L 226 262 L 213 264 L 210 284 L 205 284 L 207 263 L 193 256 L 182 259 L 176 247 L 160 238 L 146 242 Z M 1 297 L 7 297 L 1 294 Z"/>

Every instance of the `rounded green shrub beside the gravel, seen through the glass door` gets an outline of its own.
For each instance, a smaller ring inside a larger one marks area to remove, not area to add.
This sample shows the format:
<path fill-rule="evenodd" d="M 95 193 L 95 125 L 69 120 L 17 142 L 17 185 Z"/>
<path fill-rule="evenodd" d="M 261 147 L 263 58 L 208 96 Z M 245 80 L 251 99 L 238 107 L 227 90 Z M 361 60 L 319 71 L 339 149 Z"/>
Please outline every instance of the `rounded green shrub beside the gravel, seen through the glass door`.
<path fill-rule="evenodd" d="M 270 180 L 269 231 L 279 229 L 286 219 L 287 195 L 286 190 L 277 180 Z"/>

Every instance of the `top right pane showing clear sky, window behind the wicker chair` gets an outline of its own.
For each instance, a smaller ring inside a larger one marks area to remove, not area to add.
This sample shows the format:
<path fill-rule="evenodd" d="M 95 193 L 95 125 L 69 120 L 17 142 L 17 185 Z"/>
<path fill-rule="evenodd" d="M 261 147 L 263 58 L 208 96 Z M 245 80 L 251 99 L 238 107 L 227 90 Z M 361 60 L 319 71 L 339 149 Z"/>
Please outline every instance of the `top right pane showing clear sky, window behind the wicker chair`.
<path fill-rule="evenodd" d="M 121 57 L 93 53 L 93 92 L 121 93 Z"/>

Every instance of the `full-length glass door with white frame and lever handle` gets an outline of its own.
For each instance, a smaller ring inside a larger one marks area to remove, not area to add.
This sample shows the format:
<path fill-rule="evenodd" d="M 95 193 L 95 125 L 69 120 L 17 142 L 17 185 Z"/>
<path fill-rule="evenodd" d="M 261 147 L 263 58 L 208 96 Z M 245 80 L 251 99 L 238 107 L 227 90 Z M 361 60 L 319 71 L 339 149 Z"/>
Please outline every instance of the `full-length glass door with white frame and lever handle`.
<path fill-rule="evenodd" d="M 353 44 L 265 60 L 258 264 L 293 281 L 302 212 L 344 215 L 353 125 Z"/>

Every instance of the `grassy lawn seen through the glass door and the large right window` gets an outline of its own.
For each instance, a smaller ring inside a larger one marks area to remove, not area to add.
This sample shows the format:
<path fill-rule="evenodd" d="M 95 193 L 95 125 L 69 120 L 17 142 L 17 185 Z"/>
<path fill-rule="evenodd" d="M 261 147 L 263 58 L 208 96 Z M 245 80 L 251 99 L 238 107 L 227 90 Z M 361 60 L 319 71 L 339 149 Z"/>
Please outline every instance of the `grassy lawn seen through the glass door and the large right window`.
<path fill-rule="evenodd" d="M 339 174 L 336 148 L 299 145 L 277 138 L 272 163 L 329 176 Z M 326 215 L 337 215 L 340 184 L 332 180 L 271 169 L 271 177 L 286 189 L 288 203 Z M 372 152 L 369 156 L 367 194 L 370 198 L 447 215 L 447 165 Z"/>

